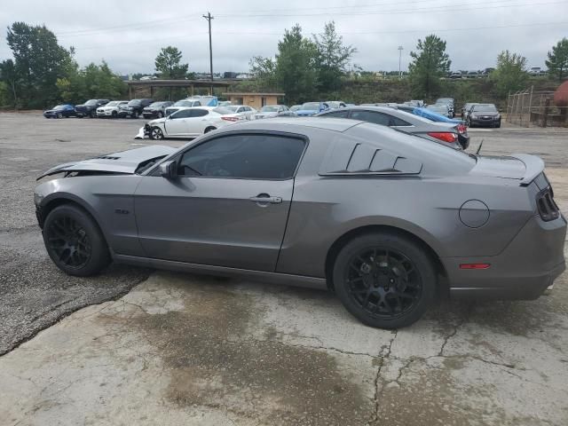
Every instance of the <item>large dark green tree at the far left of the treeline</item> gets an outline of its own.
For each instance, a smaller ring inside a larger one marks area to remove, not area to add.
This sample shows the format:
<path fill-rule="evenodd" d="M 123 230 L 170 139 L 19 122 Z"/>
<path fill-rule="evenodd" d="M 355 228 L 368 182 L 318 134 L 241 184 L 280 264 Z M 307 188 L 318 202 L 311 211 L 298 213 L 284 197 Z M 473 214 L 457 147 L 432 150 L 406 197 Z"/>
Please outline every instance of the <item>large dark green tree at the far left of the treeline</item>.
<path fill-rule="evenodd" d="M 45 26 L 14 22 L 6 41 L 12 49 L 14 69 L 19 76 L 15 89 L 22 104 L 41 108 L 58 100 L 56 82 L 74 66 L 73 51 L 60 46 Z"/>

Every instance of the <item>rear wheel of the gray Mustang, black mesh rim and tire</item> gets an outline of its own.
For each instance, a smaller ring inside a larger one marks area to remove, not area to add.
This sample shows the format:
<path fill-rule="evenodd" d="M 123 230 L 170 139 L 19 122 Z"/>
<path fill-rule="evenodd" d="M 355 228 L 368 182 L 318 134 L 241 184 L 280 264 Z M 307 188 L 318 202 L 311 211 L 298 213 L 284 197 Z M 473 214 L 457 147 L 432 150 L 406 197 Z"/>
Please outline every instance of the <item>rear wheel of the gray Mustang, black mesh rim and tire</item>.
<path fill-rule="evenodd" d="M 371 327 L 413 324 L 430 306 L 437 288 L 424 250 L 399 233 L 369 233 L 349 241 L 333 266 L 335 293 L 345 309 Z"/>

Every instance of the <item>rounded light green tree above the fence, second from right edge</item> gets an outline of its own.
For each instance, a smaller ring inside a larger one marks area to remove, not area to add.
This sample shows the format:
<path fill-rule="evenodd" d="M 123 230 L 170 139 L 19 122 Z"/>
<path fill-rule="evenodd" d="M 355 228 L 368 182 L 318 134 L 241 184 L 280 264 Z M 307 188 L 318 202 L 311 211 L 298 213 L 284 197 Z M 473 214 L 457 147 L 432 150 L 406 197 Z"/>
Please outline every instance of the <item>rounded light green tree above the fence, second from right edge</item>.
<path fill-rule="evenodd" d="M 518 53 L 501 51 L 497 56 L 497 67 L 490 77 L 495 83 L 497 94 L 501 98 L 505 98 L 511 91 L 524 89 L 528 78 L 526 58 Z"/>

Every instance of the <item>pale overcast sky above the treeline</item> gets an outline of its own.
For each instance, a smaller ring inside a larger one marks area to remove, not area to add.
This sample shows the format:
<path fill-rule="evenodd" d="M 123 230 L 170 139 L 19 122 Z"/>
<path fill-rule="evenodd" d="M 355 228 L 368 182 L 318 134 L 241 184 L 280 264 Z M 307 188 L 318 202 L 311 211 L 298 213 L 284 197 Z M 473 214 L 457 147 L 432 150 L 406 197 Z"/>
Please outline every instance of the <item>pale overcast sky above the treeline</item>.
<path fill-rule="evenodd" d="M 246 71 L 257 55 L 273 56 L 285 28 L 304 35 L 335 20 L 344 43 L 358 51 L 352 62 L 366 70 L 402 67 L 418 38 L 435 33 L 447 42 L 452 69 L 493 67 L 505 49 L 544 67 L 546 53 L 568 37 L 568 0 L 97 0 L 3 1 L 0 59 L 11 57 L 5 28 L 22 20 L 45 24 L 59 43 L 75 46 L 81 66 L 105 59 L 115 72 L 152 73 L 161 47 L 183 51 L 190 71 L 209 70 L 207 12 L 212 20 L 215 72 Z"/>

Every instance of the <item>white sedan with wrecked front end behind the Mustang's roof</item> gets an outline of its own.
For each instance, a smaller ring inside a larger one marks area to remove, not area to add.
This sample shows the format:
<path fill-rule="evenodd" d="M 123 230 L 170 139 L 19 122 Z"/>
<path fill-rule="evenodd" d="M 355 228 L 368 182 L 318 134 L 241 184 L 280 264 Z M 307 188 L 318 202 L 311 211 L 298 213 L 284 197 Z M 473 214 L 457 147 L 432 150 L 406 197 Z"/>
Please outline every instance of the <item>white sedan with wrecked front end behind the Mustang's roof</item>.
<path fill-rule="evenodd" d="M 203 133 L 244 120 L 225 106 L 180 107 L 167 117 L 146 122 L 136 138 L 197 138 Z"/>

